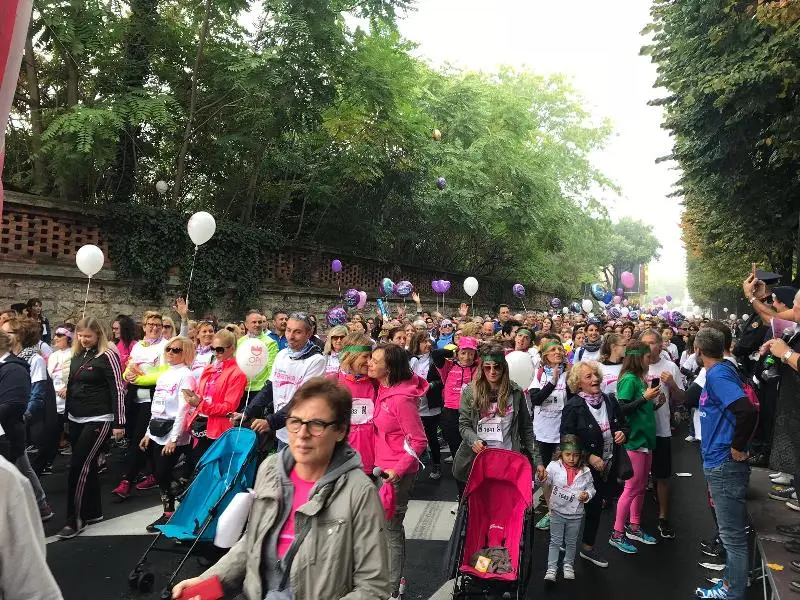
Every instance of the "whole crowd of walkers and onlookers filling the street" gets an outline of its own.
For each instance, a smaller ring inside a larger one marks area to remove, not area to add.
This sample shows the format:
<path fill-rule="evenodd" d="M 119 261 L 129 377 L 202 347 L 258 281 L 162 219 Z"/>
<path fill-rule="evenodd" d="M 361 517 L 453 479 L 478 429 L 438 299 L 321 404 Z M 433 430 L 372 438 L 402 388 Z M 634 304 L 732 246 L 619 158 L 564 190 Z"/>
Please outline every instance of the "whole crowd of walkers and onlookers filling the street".
<path fill-rule="evenodd" d="M 214 441 L 249 427 L 271 451 L 262 456 L 247 529 L 206 573 L 177 584 L 175 597 L 217 576 L 251 600 L 381 598 L 402 592 L 403 520 L 420 465 L 429 464 L 435 481 L 451 463 L 458 500 L 487 448 L 532 462 L 546 505 L 536 528 L 550 535 L 548 582 L 559 565 L 564 579 L 575 578 L 577 557 L 608 566 L 597 544 L 606 507 L 615 511 L 615 550 L 634 554 L 640 544 L 674 538 L 672 439 L 685 420 L 686 441 L 701 444 L 719 532 L 702 549 L 726 560 L 724 578 L 696 594 L 739 600 L 751 463 L 780 463 L 775 481 L 786 487 L 775 493 L 798 509 L 789 484 L 800 465 L 800 335 L 795 327 L 768 334 L 773 317 L 800 322 L 800 297 L 768 283 L 744 282 L 755 312 L 735 328 L 735 343 L 730 323 L 706 318 L 513 314 L 507 305 L 470 316 L 466 304 L 444 315 L 424 310 L 417 295 L 414 314 L 353 312 L 324 336 L 307 312 L 253 309 L 241 321 L 194 321 L 180 299 L 179 326 L 147 311 L 51 330 L 33 299 L 0 314 L 0 451 L 30 481 L 41 521 L 54 510 L 39 479 L 59 452 L 70 457 L 59 537 L 102 520 L 105 496 L 124 501 L 151 488 L 163 503 L 148 526 L 157 531 Z M 235 353 L 251 338 L 268 357 L 248 378 Z M 530 381 L 512 378 L 511 353 L 530 361 Z M 112 443 L 126 448 L 125 474 L 103 490 Z M 778 450 L 784 443 L 790 452 Z M 787 454 L 796 460 L 780 462 Z M 654 523 L 642 522 L 649 485 L 658 499 Z M 800 526 L 785 529 L 800 537 Z M 305 568 L 312 562 L 325 577 Z"/>

